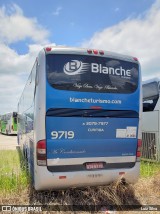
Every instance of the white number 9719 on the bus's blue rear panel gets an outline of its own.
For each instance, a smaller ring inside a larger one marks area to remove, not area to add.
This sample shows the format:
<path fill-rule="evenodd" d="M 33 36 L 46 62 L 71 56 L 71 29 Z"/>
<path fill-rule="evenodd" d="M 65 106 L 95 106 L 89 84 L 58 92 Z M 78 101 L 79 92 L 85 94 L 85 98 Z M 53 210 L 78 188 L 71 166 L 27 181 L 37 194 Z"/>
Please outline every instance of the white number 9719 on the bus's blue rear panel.
<path fill-rule="evenodd" d="M 74 132 L 73 131 L 52 131 L 51 139 L 73 139 Z"/>

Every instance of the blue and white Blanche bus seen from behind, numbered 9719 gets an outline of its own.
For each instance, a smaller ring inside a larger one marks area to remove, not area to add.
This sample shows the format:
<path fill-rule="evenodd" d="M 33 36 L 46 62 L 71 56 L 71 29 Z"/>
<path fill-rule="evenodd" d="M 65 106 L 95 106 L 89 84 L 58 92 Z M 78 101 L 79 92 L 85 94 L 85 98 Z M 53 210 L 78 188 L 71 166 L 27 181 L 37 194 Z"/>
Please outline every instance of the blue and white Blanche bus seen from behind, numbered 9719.
<path fill-rule="evenodd" d="M 35 189 L 136 182 L 141 109 L 137 58 L 40 51 L 18 104 L 18 142 Z"/>

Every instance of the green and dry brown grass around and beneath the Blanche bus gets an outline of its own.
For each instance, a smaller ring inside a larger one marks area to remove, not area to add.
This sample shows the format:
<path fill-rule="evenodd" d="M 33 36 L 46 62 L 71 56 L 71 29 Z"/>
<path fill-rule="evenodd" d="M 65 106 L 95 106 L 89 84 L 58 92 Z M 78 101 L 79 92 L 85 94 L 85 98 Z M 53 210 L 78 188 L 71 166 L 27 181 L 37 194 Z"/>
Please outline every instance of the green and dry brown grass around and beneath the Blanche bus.
<path fill-rule="evenodd" d="M 141 161 L 140 172 L 141 178 L 135 185 L 124 185 L 119 180 L 106 186 L 37 192 L 30 186 L 25 162 L 19 152 L 0 151 L 0 204 L 159 204 L 160 163 Z"/>

